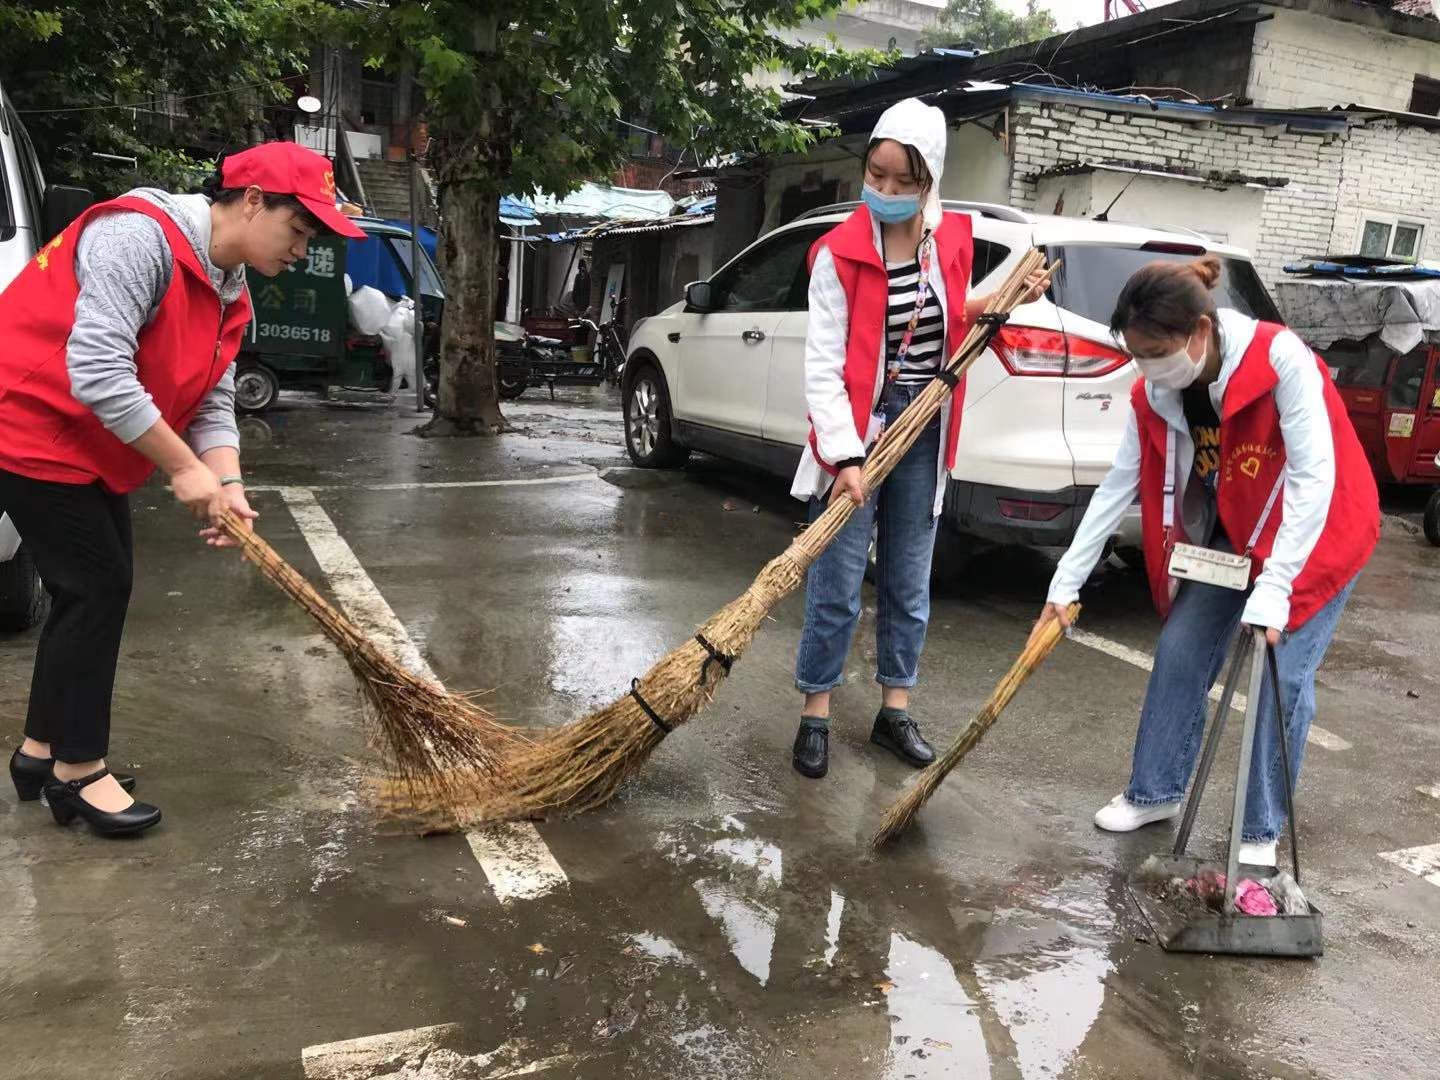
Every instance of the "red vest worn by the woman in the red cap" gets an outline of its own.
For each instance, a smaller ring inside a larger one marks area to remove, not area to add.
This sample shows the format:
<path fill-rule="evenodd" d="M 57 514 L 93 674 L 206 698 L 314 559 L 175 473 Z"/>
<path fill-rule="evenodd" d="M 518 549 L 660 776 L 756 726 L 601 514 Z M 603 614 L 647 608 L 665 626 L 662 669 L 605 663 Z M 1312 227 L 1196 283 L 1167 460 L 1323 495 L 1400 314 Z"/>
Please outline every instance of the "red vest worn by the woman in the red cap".
<path fill-rule="evenodd" d="M 96 215 L 134 210 L 160 223 L 174 266 L 170 287 L 135 343 L 135 373 L 166 423 L 190 426 L 239 351 L 249 292 L 222 308 L 180 228 L 158 206 L 130 196 L 92 206 L 40 249 L 0 292 L 0 468 L 62 484 L 99 481 L 117 494 L 145 482 L 154 464 L 131 449 L 71 395 L 65 347 L 75 324 L 75 245 Z"/>

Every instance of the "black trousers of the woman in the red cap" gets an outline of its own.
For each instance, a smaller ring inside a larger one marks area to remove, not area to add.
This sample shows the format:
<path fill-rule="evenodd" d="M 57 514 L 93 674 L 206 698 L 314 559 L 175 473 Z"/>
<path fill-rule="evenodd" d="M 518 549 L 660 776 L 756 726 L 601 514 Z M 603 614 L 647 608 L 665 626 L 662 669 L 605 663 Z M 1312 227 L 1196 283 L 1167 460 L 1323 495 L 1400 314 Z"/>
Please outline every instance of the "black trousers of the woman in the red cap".
<path fill-rule="evenodd" d="M 0 469 L 0 511 L 50 593 L 24 733 L 62 762 L 109 749 L 109 698 L 132 579 L 130 500 L 99 484 L 53 484 Z"/>

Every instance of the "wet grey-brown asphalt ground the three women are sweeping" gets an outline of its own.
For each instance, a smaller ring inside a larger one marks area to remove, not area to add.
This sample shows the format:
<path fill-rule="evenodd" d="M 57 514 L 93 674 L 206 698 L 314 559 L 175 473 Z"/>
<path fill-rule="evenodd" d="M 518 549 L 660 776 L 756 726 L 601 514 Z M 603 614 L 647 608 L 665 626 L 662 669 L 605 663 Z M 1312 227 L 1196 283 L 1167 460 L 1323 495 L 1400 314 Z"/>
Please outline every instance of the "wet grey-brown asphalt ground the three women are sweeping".
<path fill-rule="evenodd" d="M 291 492 L 259 491 L 259 524 L 311 580 L 354 592 L 321 569 L 338 539 L 446 685 L 556 724 L 736 596 L 802 510 L 716 459 L 629 469 L 603 390 L 508 413 L 521 433 L 428 442 L 406 412 L 287 399 L 246 422 L 245 461 Z M 0 1077 L 1434 1076 L 1440 873 L 1403 864 L 1440 858 L 1440 549 L 1414 498 L 1392 508 L 1320 674 L 1332 742 L 1299 795 L 1328 950 L 1282 962 L 1158 949 L 1125 876 L 1172 828 L 1090 824 L 1125 783 L 1145 687 L 1115 654 L 1158 626 L 1135 573 L 1084 598 L 1084 629 L 1120 648 L 1063 645 L 880 855 L 868 837 L 910 772 L 865 742 L 873 608 L 811 782 L 789 766 L 789 599 L 616 804 L 539 827 L 563 881 L 501 900 L 465 837 L 376 818 L 348 668 L 148 487 L 111 760 L 166 821 L 104 842 L 0 799 Z M 1053 553 L 949 562 L 914 701 L 937 743 L 1021 648 Z M 0 639 L 12 737 L 33 638 Z"/>

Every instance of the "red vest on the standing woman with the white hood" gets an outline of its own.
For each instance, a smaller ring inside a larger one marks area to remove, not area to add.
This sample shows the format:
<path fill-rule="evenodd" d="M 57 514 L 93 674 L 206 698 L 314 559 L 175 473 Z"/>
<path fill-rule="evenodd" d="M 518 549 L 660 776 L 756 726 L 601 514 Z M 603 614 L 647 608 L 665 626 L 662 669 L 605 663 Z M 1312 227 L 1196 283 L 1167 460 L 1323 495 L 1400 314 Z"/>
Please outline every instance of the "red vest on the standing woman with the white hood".
<path fill-rule="evenodd" d="M 874 226 L 870 209 L 858 207 L 828 233 L 815 240 L 809 252 L 809 265 L 821 248 L 829 248 L 835 259 L 835 274 L 845 289 L 845 310 L 850 312 L 850 331 L 845 341 L 845 393 L 855 418 L 855 432 L 861 439 L 870 428 L 870 413 L 874 410 L 876 383 L 881 377 L 881 336 L 886 333 L 886 310 L 890 305 L 890 276 L 886 264 L 876 251 Z M 945 279 L 945 360 L 965 340 L 965 297 L 971 287 L 971 264 L 975 246 L 971 236 L 971 219 L 963 213 L 946 213 L 940 228 L 935 230 L 935 253 L 940 261 Z M 965 380 L 955 387 L 950 399 L 950 431 L 945 451 L 945 467 L 955 467 L 955 448 L 960 438 L 960 406 L 965 402 Z M 811 451 L 815 461 L 827 472 L 835 468 L 819 455 L 815 426 L 811 425 Z"/>

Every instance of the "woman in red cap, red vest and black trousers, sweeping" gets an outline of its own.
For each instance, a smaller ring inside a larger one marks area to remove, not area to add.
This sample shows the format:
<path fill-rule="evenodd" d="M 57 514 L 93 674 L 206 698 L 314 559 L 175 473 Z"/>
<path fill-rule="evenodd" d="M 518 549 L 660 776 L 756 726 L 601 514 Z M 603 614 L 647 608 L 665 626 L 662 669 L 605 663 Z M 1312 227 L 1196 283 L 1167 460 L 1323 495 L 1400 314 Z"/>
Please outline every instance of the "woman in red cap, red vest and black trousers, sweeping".
<path fill-rule="evenodd" d="M 245 268 L 274 276 L 321 232 L 363 235 L 336 210 L 314 151 L 269 143 L 226 158 L 203 194 L 137 189 L 92 206 L 0 292 L 0 511 L 52 598 L 10 759 L 22 799 L 55 819 L 134 834 L 160 809 L 105 768 L 131 588 L 127 494 L 158 467 L 215 528 L 255 517 L 240 480 L 235 354 L 251 321 Z"/>

